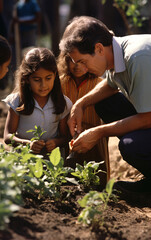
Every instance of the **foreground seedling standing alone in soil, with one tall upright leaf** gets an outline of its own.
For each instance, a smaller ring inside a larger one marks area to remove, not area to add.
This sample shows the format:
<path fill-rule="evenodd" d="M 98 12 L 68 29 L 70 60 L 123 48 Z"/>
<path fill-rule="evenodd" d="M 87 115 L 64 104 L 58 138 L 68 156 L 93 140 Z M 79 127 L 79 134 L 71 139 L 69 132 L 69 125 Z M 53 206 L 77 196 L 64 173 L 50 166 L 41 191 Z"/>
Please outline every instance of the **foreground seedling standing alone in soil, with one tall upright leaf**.
<path fill-rule="evenodd" d="M 78 203 L 83 208 L 78 217 L 78 222 L 94 226 L 99 221 L 97 217 L 101 215 L 103 225 L 103 212 L 106 210 L 108 202 L 111 199 L 117 200 L 117 196 L 113 194 L 113 185 L 114 179 L 111 179 L 103 192 L 90 191 L 82 199 L 78 200 Z"/>

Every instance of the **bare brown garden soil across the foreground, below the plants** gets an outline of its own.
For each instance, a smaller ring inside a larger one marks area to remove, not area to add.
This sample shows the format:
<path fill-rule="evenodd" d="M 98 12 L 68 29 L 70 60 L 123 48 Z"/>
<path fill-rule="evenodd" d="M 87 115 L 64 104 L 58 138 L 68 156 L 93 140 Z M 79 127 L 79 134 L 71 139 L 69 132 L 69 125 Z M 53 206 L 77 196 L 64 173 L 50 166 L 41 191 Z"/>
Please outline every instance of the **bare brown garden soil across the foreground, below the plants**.
<path fill-rule="evenodd" d="M 71 196 L 62 204 L 32 196 L 24 196 L 25 205 L 11 217 L 7 230 L 0 231 L 1 240 L 150 240 L 151 210 L 131 206 L 124 200 L 111 202 L 104 212 L 104 224 L 93 228 L 77 223 L 81 211 L 77 199 L 83 192 L 68 187 Z"/>

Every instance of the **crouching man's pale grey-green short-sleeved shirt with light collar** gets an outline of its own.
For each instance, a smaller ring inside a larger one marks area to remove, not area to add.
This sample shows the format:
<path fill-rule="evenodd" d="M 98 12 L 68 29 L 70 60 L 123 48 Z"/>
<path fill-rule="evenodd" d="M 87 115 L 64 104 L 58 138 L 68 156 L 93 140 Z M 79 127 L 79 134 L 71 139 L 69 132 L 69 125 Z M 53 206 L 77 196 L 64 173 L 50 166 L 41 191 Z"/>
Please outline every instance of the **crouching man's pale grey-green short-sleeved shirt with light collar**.
<path fill-rule="evenodd" d="M 114 70 L 107 71 L 111 87 L 119 88 L 138 113 L 151 111 L 151 35 L 113 37 Z"/>

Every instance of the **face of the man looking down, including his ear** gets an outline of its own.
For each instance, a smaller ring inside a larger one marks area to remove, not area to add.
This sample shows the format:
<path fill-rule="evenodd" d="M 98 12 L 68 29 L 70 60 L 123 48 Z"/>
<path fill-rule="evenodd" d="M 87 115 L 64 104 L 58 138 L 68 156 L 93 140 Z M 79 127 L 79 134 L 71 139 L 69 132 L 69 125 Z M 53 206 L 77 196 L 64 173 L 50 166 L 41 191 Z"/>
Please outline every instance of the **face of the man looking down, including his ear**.
<path fill-rule="evenodd" d="M 84 64 L 90 73 L 97 76 L 102 76 L 108 69 L 105 54 L 98 48 L 95 48 L 93 55 L 82 54 L 77 48 L 74 48 L 70 53 L 70 57 L 74 63 Z"/>

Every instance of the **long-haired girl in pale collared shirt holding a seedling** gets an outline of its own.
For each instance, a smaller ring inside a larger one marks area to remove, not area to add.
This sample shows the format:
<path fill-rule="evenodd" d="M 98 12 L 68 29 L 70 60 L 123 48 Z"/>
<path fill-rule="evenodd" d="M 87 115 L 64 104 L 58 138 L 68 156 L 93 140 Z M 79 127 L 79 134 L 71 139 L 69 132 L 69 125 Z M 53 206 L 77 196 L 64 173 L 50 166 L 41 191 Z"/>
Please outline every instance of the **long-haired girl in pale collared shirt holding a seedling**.
<path fill-rule="evenodd" d="M 6 144 L 10 139 L 28 143 L 34 153 L 40 153 L 44 147 L 51 152 L 65 144 L 72 102 L 62 94 L 55 57 L 50 50 L 33 48 L 26 53 L 16 71 L 16 88 L 4 101 L 10 107 L 4 129 Z M 33 133 L 27 131 L 35 125 L 46 132 L 41 140 L 31 142 Z"/>

